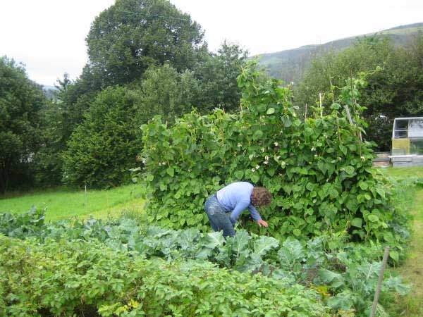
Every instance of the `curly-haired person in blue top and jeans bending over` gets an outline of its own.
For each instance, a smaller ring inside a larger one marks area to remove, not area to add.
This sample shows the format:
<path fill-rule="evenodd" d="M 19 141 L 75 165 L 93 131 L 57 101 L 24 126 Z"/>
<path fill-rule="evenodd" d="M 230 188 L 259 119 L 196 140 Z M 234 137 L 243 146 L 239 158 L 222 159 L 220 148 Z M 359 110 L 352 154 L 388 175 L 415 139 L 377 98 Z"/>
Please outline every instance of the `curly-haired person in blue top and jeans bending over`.
<path fill-rule="evenodd" d="M 255 207 L 268 206 L 270 203 L 271 194 L 266 188 L 254 187 L 250 182 L 233 182 L 207 198 L 204 209 L 214 231 L 223 230 L 223 237 L 233 237 L 233 227 L 245 209 L 250 211 L 260 227 L 267 227 L 268 224 Z"/>

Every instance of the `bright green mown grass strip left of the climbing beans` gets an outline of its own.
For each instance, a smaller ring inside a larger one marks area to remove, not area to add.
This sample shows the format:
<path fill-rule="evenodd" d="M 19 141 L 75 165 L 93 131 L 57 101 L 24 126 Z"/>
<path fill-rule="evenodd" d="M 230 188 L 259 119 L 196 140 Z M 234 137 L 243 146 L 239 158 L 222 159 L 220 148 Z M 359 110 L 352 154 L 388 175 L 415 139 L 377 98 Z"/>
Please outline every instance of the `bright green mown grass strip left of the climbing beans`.
<path fill-rule="evenodd" d="M 32 206 L 46 209 L 47 220 L 70 217 L 95 218 L 118 216 L 123 210 L 142 211 L 140 185 L 126 185 L 108 190 L 56 188 L 27 194 L 0 197 L 0 212 L 24 213 Z"/>

